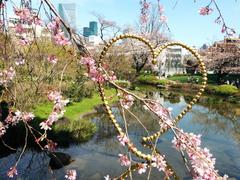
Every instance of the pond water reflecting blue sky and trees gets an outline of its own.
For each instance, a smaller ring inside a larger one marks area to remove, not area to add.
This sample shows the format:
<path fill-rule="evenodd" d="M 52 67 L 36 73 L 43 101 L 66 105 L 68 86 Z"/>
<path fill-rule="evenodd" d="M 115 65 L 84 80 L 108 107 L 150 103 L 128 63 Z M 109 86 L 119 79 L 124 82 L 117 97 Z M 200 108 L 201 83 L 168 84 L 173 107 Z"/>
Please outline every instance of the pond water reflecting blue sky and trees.
<path fill-rule="evenodd" d="M 158 91 L 148 92 L 148 97 L 160 101 L 165 107 L 173 108 L 173 116 L 181 112 L 191 96 Z M 122 124 L 118 107 L 112 107 L 117 120 Z M 157 120 L 153 115 L 141 108 L 136 102 L 132 111 L 150 132 L 158 129 Z M 142 126 L 134 120 L 130 114 L 128 119 L 128 132 L 136 146 L 144 151 L 150 152 L 141 145 L 141 137 L 147 135 Z M 104 179 L 109 174 L 117 177 L 126 170 L 118 162 L 118 154 L 124 153 L 126 149 L 119 146 L 115 130 L 104 113 L 98 113 L 89 117 L 98 127 L 96 135 L 87 143 L 74 144 L 67 148 L 59 148 L 72 156 L 74 160 L 68 166 L 58 170 L 51 170 L 48 166 L 49 157 L 45 153 L 28 150 L 19 164 L 18 179 L 64 179 L 67 169 L 76 169 L 78 179 L 94 180 Z M 240 179 L 240 107 L 230 104 L 214 97 L 204 97 L 200 103 L 195 105 L 179 123 L 186 132 L 202 134 L 202 146 L 210 149 L 216 158 L 216 169 L 219 174 L 228 174 L 233 179 Z M 167 132 L 162 135 L 157 143 L 158 150 L 166 155 L 169 165 L 172 166 L 179 179 L 191 179 L 184 168 L 181 156 L 171 144 L 173 135 Z M 6 171 L 16 161 L 19 153 L 14 153 L 0 159 L 0 179 L 7 179 Z M 133 156 L 133 159 L 136 157 Z M 151 179 L 162 179 L 162 174 L 152 170 Z M 133 179 L 146 179 L 146 175 L 138 176 L 133 173 Z"/>

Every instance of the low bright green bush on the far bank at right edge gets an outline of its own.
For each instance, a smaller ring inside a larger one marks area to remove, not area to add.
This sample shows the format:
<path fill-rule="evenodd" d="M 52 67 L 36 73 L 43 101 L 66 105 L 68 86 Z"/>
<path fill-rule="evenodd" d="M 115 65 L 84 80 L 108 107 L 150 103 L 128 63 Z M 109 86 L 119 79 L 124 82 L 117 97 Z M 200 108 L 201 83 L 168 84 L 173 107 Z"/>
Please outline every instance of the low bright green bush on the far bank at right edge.
<path fill-rule="evenodd" d="M 238 88 L 233 85 L 220 85 L 220 86 L 214 86 L 212 89 L 215 91 L 216 94 L 220 95 L 233 95 L 238 92 Z"/>

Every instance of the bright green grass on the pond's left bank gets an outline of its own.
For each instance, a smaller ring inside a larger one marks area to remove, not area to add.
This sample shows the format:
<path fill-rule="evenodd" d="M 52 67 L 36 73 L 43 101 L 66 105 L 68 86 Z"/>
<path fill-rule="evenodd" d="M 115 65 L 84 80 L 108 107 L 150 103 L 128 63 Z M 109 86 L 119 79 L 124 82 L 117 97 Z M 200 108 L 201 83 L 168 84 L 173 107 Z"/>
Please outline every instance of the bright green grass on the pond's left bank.
<path fill-rule="evenodd" d="M 106 89 L 105 94 L 106 96 L 112 96 L 115 94 L 115 89 Z M 116 98 L 117 97 L 114 96 L 111 102 L 115 101 Z M 99 104 L 102 104 L 102 100 L 99 93 L 95 92 L 91 98 L 84 98 L 80 102 L 73 102 L 68 105 L 65 108 L 66 112 L 64 116 L 70 120 L 78 120 L 82 114 L 91 112 L 94 106 Z M 52 107 L 52 103 L 41 104 L 35 108 L 34 114 L 41 119 L 46 119 L 52 111 Z"/>

